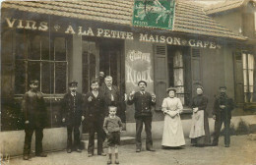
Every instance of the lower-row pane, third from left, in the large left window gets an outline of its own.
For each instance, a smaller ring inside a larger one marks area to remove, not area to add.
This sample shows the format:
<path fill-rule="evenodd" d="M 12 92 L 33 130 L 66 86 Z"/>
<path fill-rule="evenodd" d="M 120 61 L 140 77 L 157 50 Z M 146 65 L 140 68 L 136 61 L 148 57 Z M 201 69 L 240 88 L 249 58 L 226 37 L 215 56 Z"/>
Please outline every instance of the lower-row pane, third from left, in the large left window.
<path fill-rule="evenodd" d="M 49 62 L 41 63 L 41 92 L 53 93 L 54 91 L 54 64 Z"/>

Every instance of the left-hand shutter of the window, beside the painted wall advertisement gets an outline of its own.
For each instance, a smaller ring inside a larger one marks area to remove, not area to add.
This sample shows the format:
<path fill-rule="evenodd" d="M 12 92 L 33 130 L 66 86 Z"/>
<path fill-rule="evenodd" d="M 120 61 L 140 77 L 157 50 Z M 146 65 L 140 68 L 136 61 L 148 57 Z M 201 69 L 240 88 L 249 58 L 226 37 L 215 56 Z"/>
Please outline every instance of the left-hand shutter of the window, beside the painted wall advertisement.
<path fill-rule="evenodd" d="M 161 110 L 161 103 L 166 97 L 168 87 L 167 46 L 155 45 L 155 93 L 157 95 L 156 110 Z"/>

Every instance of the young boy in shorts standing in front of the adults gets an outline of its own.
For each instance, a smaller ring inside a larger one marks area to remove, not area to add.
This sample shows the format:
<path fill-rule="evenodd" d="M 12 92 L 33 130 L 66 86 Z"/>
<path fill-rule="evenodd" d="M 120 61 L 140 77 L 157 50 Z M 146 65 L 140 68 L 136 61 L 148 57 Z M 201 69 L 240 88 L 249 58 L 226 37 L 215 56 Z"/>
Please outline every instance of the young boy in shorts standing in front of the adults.
<path fill-rule="evenodd" d="M 120 132 L 122 130 L 121 119 L 116 116 L 117 107 L 108 107 L 109 116 L 104 119 L 103 129 L 107 135 L 108 143 L 108 160 L 107 164 L 112 163 L 112 150 L 114 148 L 115 164 L 119 164 L 118 161 L 118 146 L 120 144 Z"/>

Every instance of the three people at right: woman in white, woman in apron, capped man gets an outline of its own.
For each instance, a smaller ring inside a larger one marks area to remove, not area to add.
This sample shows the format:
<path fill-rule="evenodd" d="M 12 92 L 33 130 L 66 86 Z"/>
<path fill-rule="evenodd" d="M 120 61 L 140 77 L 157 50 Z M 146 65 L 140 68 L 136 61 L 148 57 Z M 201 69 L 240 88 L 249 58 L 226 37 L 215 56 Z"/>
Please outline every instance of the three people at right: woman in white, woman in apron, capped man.
<path fill-rule="evenodd" d="M 230 134 L 229 125 L 233 101 L 226 95 L 226 87 L 220 86 L 220 96 L 216 97 L 213 119 L 215 120 L 214 139 L 211 143 L 207 104 L 208 98 L 203 94 L 204 88 L 199 85 L 196 87 L 197 95 L 192 98 L 191 108 L 193 110 L 192 123 L 189 138 L 194 146 L 217 146 L 224 124 L 224 144 L 229 147 Z M 175 97 L 176 89 L 170 87 L 167 89 L 168 97 L 162 101 L 162 112 L 164 114 L 164 126 L 162 133 L 163 147 L 179 147 L 185 145 L 180 113 L 182 112 L 182 103 Z"/>

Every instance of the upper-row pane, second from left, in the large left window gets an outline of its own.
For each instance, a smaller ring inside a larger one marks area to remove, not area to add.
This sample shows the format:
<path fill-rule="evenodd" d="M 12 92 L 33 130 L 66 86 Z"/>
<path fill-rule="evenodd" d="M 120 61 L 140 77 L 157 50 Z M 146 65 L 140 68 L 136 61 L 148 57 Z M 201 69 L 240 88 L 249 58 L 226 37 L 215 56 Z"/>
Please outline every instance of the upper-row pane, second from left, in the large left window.
<path fill-rule="evenodd" d="M 28 58 L 32 60 L 40 59 L 40 36 L 39 35 L 29 35 L 28 43 Z"/>

